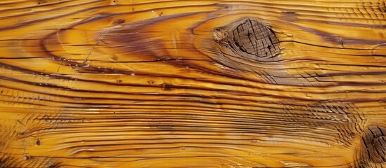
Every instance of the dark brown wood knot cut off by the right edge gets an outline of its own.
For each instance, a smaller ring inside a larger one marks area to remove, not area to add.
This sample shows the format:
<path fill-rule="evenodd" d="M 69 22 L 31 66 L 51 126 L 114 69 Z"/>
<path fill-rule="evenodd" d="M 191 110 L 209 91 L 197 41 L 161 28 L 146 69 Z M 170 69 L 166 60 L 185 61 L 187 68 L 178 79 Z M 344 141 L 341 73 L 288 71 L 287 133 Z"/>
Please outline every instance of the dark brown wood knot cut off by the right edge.
<path fill-rule="evenodd" d="M 386 128 L 371 126 L 362 137 L 361 165 L 386 163 Z"/>

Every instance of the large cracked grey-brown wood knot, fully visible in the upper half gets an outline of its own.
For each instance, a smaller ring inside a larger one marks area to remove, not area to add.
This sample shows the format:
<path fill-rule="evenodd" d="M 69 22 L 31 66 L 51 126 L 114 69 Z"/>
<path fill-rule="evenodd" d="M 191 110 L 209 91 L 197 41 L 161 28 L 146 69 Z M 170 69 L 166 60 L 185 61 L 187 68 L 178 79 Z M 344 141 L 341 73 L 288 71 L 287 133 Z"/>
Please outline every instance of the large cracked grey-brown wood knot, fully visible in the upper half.
<path fill-rule="evenodd" d="M 214 29 L 214 40 L 243 58 L 264 61 L 280 54 L 274 31 L 261 22 L 246 19 Z"/>

